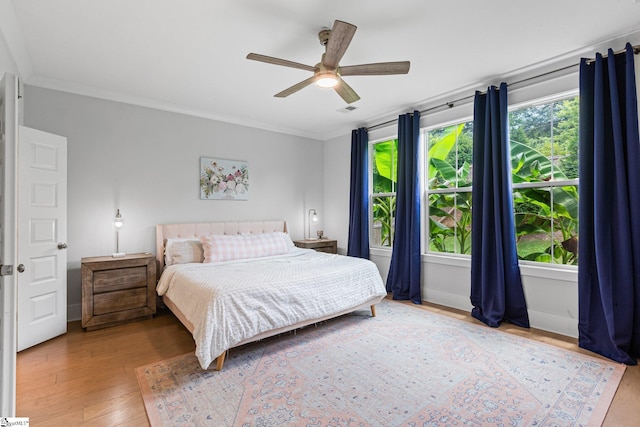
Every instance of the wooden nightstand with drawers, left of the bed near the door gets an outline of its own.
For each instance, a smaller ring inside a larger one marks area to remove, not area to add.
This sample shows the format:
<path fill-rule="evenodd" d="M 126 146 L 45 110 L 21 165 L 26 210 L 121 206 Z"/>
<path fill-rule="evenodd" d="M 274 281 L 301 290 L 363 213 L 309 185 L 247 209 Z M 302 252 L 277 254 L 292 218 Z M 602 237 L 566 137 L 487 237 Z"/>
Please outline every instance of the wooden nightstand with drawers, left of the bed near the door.
<path fill-rule="evenodd" d="M 156 312 L 156 258 L 131 254 L 82 258 L 82 327 L 87 331 Z"/>

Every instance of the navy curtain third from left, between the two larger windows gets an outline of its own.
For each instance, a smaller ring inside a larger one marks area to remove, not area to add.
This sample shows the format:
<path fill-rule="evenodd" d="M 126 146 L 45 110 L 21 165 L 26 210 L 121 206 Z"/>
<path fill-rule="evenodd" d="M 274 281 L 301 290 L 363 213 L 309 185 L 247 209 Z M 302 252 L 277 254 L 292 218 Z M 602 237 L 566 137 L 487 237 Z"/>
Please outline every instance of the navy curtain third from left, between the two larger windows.
<path fill-rule="evenodd" d="M 471 315 L 529 327 L 516 253 L 507 85 L 476 93 L 473 117 Z"/>

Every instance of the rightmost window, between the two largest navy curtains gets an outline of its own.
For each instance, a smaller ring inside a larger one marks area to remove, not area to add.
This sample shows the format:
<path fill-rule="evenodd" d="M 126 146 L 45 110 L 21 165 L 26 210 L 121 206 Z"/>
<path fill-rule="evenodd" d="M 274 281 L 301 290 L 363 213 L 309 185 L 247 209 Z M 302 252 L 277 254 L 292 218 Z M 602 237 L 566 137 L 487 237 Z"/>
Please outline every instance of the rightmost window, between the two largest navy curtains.
<path fill-rule="evenodd" d="M 578 263 L 578 98 L 509 113 L 518 258 Z"/>

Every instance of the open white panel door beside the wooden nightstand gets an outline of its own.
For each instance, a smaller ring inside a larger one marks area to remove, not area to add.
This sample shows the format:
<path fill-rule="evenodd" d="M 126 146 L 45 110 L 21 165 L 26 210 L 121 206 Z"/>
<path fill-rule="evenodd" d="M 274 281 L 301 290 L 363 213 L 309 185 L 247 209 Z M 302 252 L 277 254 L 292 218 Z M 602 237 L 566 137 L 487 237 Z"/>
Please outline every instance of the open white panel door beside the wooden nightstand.
<path fill-rule="evenodd" d="M 18 133 L 18 351 L 67 331 L 67 139 Z"/>

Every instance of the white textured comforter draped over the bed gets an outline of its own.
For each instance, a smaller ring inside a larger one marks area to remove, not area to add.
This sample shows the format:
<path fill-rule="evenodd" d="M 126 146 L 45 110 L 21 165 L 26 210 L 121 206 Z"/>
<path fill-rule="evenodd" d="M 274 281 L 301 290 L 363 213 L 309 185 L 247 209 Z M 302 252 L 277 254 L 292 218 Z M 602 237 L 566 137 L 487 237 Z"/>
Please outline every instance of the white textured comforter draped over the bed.
<path fill-rule="evenodd" d="M 265 331 L 318 319 L 386 295 L 371 261 L 294 249 L 282 256 L 172 265 L 158 282 L 194 325 L 203 369 Z"/>

